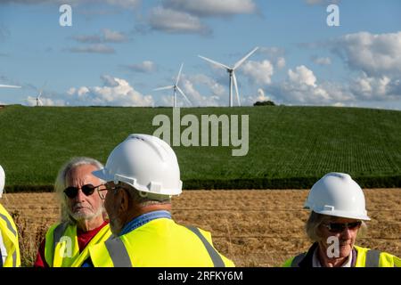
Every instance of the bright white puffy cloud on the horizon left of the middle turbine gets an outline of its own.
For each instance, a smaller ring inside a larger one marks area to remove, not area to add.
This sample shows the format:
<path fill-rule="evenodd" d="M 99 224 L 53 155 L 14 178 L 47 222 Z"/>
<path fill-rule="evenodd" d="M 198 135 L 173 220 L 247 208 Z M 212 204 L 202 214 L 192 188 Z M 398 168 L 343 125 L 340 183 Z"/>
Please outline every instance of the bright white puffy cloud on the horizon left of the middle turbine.
<path fill-rule="evenodd" d="M 151 95 L 140 94 L 124 79 L 102 76 L 102 81 L 103 86 L 70 88 L 67 92 L 67 104 L 74 106 L 153 106 Z"/>

